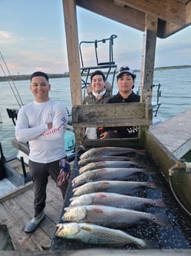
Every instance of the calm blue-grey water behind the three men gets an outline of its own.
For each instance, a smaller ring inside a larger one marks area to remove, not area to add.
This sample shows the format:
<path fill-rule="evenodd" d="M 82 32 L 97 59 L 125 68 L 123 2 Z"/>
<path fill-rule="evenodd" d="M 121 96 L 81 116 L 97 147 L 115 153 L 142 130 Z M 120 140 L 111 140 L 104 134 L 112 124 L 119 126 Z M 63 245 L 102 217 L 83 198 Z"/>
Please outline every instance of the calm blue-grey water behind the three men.
<path fill-rule="evenodd" d="M 137 73 L 134 88 L 135 92 L 138 91 L 139 82 L 140 73 Z M 29 80 L 15 82 L 23 104 L 27 104 L 27 102 L 33 100 L 33 94 L 30 92 L 29 83 Z M 191 108 L 191 68 L 156 70 L 154 73 L 154 84 L 158 83 L 161 84 L 161 107 L 159 108 L 158 116 L 161 116 L 164 119 L 169 119 L 170 117 L 185 111 L 187 108 Z M 69 78 L 50 79 L 50 84 L 52 85 L 50 97 L 52 99 L 63 101 L 70 111 L 72 106 Z M 19 104 L 16 101 L 8 82 L 0 82 L 0 90 L 0 120 L 2 121 L 2 123 L 0 123 L 0 142 L 5 157 L 12 157 L 16 154 L 16 149 L 11 145 L 11 140 L 15 137 L 14 125 L 12 120 L 8 118 L 6 109 L 18 109 Z M 117 91 L 117 86 L 114 85 L 113 93 L 116 93 Z"/>

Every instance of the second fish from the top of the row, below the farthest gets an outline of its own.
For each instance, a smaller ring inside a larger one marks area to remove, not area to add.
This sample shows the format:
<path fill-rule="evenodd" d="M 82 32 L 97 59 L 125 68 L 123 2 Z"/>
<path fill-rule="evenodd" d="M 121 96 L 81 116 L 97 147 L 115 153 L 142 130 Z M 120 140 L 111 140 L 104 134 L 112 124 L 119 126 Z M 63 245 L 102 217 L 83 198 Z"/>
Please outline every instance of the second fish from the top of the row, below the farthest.
<path fill-rule="evenodd" d="M 126 157 L 126 156 L 100 156 L 100 157 L 90 157 L 84 158 L 78 161 L 78 165 L 84 166 L 88 163 L 95 163 L 99 161 L 132 161 L 135 162 L 135 158 L 133 157 Z"/>

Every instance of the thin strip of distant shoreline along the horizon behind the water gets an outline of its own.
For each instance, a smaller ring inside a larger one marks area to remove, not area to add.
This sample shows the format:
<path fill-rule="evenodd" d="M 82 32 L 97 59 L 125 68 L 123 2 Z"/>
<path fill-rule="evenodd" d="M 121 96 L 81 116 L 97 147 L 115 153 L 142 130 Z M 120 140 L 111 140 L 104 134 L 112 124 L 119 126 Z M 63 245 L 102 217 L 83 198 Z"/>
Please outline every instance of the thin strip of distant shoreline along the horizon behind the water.
<path fill-rule="evenodd" d="M 181 65 L 181 66 L 170 66 L 170 67 L 160 67 L 155 68 L 155 70 L 171 70 L 171 69 L 180 69 L 180 68 L 191 68 L 191 65 Z M 140 70 L 134 70 L 135 72 L 140 72 Z M 48 73 L 49 78 L 61 78 L 61 77 L 69 77 L 69 72 L 65 73 Z M 13 75 L 13 76 L 0 76 L 0 82 L 3 81 L 18 81 L 18 80 L 28 80 L 30 79 L 30 75 Z"/>

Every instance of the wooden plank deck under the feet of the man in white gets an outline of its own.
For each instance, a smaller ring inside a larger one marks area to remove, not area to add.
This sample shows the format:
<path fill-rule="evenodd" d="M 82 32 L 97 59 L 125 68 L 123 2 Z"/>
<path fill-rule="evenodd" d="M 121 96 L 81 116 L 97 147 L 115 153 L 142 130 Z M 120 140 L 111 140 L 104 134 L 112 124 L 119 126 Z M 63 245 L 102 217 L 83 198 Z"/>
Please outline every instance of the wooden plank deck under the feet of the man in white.
<path fill-rule="evenodd" d="M 16 251 L 49 249 L 63 207 L 61 191 L 49 178 L 46 217 L 35 232 L 26 234 L 24 226 L 33 218 L 33 183 L 15 193 L 0 197 L 0 224 L 6 225 Z"/>

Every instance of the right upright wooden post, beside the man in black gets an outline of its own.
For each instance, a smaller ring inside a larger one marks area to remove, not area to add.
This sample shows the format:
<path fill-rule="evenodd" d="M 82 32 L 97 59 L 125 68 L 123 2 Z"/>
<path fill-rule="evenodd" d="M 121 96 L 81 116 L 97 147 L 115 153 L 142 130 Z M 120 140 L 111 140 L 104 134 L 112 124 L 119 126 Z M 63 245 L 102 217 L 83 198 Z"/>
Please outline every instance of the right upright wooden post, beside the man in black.
<path fill-rule="evenodd" d="M 158 18 L 146 13 L 141 64 L 141 102 L 146 103 L 148 119 L 153 119 L 152 93 L 157 27 Z M 144 131 L 148 128 L 149 126 L 142 126 L 139 129 L 140 145 L 144 144 Z"/>

